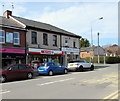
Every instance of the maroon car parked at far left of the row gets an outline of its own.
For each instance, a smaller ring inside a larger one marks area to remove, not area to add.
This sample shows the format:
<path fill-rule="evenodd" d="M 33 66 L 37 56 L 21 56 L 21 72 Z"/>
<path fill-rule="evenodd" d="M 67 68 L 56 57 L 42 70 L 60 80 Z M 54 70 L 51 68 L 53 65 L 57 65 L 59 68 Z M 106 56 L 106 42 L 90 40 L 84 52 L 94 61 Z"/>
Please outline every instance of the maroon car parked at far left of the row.
<path fill-rule="evenodd" d="M 0 70 L 0 81 L 6 82 L 7 80 L 33 78 L 34 70 L 31 66 L 25 64 L 11 64 L 2 67 Z"/>

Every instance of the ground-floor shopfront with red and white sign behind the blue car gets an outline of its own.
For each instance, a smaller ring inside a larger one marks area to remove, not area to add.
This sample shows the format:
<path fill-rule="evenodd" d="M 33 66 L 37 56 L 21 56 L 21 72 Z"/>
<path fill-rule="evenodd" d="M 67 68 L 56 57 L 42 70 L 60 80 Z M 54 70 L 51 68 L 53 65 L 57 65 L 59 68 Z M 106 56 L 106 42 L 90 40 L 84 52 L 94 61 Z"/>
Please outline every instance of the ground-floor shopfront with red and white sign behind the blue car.
<path fill-rule="evenodd" d="M 64 52 L 59 50 L 49 50 L 49 49 L 28 49 L 28 63 L 34 65 L 34 63 L 43 62 L 59 62 L 63 63 Z M 39 65 L 39 64 L 38 64 Z"/>

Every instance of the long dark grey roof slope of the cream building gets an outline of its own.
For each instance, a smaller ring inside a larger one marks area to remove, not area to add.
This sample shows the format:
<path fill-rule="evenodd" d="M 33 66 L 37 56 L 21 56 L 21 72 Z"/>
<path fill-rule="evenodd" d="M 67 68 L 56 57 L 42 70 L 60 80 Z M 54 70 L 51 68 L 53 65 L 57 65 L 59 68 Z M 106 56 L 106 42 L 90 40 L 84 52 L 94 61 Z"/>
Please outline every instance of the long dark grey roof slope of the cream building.
<path fill-rule="evenodd" d="M 12 16 L 12 17 L 15 18 L 16 20 L 22 22 L 23 24 L 25 24 L 28 27 L 39 28 L 39 29 L 43 29 L 43 30 L 58 32 L 58 33 L 61 33 L 61 34 L 65 34 L 65 35 L 70 35 L 70 36 L 75 36 L 75 37 L 81 38 L 81 36 L 79 36 L 79 35 L 76 35 L 74 33 L 65 31 L 63 29 L 60 29 L 60 28 L 55 27 L 55 26 L 50 25 L 50 24 L 46 24 L 46 23 L 42 23 L 42 22 L 38 22 L 38 21 L 26 19 L 26 18 L 16 17 L 16 16 Z"/>

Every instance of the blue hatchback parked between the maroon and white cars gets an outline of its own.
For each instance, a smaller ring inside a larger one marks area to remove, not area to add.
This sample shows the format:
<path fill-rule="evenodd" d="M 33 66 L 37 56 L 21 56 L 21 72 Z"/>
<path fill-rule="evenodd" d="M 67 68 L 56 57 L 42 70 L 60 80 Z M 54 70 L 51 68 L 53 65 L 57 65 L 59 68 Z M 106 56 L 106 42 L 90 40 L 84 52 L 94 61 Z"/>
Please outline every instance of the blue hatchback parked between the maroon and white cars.
<path fill-rule="evenodd" d="M 38 68 L 38 74 L 48 74 L 50 76 L 58 73 L 67 74 L 68 70 L 65 66 L 60 66 L 58 62 L 46 62 L 42 63 Z"/>

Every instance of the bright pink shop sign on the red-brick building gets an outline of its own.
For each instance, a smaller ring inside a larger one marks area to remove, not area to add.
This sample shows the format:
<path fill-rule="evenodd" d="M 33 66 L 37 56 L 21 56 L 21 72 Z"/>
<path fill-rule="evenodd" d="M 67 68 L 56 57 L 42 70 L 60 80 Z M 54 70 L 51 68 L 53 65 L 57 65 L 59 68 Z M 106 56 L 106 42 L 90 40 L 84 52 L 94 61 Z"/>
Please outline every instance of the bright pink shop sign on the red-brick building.
<path fill-rule="evenodd" d="M 22 53 L 22 54 L 25 54 L 24 49 L 13 49 L 13 48 L 0 48 L 0 52 L 2 52 L 2 53 Z"/>

